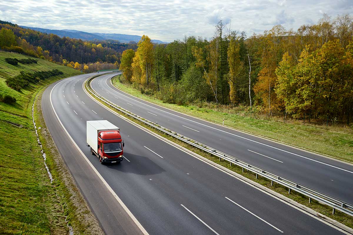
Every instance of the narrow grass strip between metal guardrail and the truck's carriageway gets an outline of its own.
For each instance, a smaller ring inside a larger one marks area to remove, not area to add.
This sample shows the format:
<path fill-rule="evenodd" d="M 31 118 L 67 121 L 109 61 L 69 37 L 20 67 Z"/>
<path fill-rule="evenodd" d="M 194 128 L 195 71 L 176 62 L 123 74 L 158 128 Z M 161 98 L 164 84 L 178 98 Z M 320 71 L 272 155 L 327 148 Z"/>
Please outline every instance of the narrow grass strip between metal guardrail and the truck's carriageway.
<path fill-rule="evenodd" d="M 96 98 L 90 91 L 88 91 L 92 97 Z M 267 188 L 269 188 L 270 190 L 273 190 L 277 193 L 280 193 L 292 200 L 294 200 L 295 202 L 298 202 L 302 205 L 305 205 L 307 206 L 308 208 L 311 208 L 329 218 L 332 218 L 334 220 L 336 220 L 337 222 L 340 222 L 350 228 L 353 228 L 353 217 L 352 216 L 349 216 L 343 212 L 340 212 L 338 210 L 336 210 L 335 212 L 335 215 L 332 215 L 332 208 L 330 206 L 327 206 L 327 205 L 323 205 L 319 202 L 317 202 L 316 200 L 311 200 L 311 203 L 309 203 L 309 198 L 306 197 L 306 196 L 303 196 L 302 194 L 298 193 L 298 192 L 295 192 L 295 191 L 291 191 L 290 194 L 288 194 L 288 188 L 285 187 L 285 186 L 282 186 L 280 184 L 277 184 L 277 183 L 274 183 L 272 186 L 271 186 L 271 180 L 268 180 L 266 178 L 263 178 L 261 176 L 259 176 L 257 179 L 256 179 L 256 174 L 255 173 L 252 173 L 252 172 L 248 172 L 248 171 L 244 171 L 243 172 L 243 169 L 241 167 L 238 167 L 236 165 L 232 165 L 230 166 L 230 163 L 228 161 L 220 161 L 219 160 L 219 157 L 216 157 L 212 154 L 209 154 L 209 153 L 206 153 L 204 151 L 202 151 L 201 149 L 198 149 L 196 147 L 193 147 L 183 141 L 180 141 L 179 139 L 173 137 L 173 136 L 170 136 L 170 135 L 167 135 L 166 133 L 162 132 L 162 131 L 159 131 L 153 127 L 151 127 L 150 125 L 147 125 L 129 115 L 126 115 L 125 113 L 119 111 L 118 109 L 115 109 L 113 108 L 112 106 L 110 105 L 107 105 L 106 103 L 104 103 L 103 101 L 99 100 L 96 98 L 97 101 L 99 101 L 100 103 L 102 103 L 103 105 L 109 107 L 110 109 L 114 110 L 115 112 L 119 113 L 120 115 L 132 120 L 133 122 L 143 126 L 144 128 L 146 129 L 149 129 L 150 131 L 153 131 L 155 132 L 156 134 L 170 140 L 170 141 L 173 141 L 174 143 L 177 143 L 178 145 L 186 148 L 186 149 L 189 149 L 191 151 L 193 151 L 194 153 L 196 154 L 199 154 L 223 167 L 226 167 L 228 169 L 230 169 L 231 171 L 234 171 L 240 175 L 243 175 L 244 177 L 248 178 L 248 179 L 251 179 L 252 181 L 256 182 L 256 183 L 259 183 Z"/>

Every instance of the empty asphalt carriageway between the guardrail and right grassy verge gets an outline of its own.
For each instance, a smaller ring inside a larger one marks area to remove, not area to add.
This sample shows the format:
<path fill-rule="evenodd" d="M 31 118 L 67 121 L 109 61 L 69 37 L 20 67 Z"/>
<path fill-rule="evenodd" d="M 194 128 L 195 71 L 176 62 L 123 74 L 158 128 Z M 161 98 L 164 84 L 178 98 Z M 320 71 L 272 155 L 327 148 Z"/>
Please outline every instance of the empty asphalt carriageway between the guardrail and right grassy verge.
<path fill-rule="evenodd" d="M 143 118 L 250 164 L 353 204 L 353 165 L 249 135 L 149 103 L 101 76 L 91 87 L 104 98 Z"/>

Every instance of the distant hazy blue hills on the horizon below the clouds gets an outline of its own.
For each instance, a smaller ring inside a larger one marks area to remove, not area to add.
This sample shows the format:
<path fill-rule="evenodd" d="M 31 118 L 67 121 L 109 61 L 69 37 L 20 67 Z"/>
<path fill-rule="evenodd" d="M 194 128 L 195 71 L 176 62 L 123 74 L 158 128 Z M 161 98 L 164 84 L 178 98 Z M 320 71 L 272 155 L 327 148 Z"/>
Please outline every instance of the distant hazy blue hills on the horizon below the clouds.
<path fill-rule="evenodd" d="M 128 35 L 128 34 L 120 34 L 120 33 L 88 33 L 88 32 L 70 30 L 70 29 L 53 30 L 53 29 L 43 29 L 43 28 L 28 27 L 28 26 L 20 26 L 20 27 L 23 27 L 25 29 L 40 31 L 42 33 L 53 33 L 55 35 L 58 35 L 59 37 L 77 38 L 77 39 L 82 39 L 86 41 L 91 41 L 95 39 L 97 40 L 112 39 L 112 40 L 118 40 L 121 43 L 129 43 L 131 41 L 138 42 L 141 39 L 141 36 L 138 36 L 138 35 Z M 154 40 L 154 39 L 151 39 L 151 42 L 157 43 L 157 44 L 167 43 L 167 42 L 162 42 L 160 40 Z"/>

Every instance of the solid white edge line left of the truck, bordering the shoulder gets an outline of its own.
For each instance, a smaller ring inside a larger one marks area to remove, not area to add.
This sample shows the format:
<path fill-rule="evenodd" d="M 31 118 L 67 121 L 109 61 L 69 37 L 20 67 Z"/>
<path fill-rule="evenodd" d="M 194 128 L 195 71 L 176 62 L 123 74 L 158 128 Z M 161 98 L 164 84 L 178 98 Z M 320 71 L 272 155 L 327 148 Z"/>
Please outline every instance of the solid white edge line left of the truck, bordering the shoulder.
<path fill-rule="evenodd" d="M 67 78 L 70 79 L 70 78 Z M 67 80 L 65 79 L 65 80 Z M 62 80 L 61 82 L 65 81 Z M 58 85 L 58 82 L 56 85 Z M 116 195 L 116 193 L 114 192 L 114 190 L 109 186 L 109 184 L 107 183 L 106 180 L 104 180 L 104 178 L 102 177 L 102 175 L 97 171 L 97 169 L 92 165 L 92 163 L 88 160 L 88 158 L 86 157 L 86 155 L 82 152 L 82 150 L 78 147 L 78 145 L 76 144 L 76 142 L 73 140 L 73 138 L 70 136 L 70 134 L 67 132 L 65 126 L 62 124 L 58 114 L 56 113 L 55 109 L 54 109 L 54 105 L 52 102 L 52 92 L 53 89 L 56 87 L 56 85 L 52 88 L 52 91 L 50 91 L 50 104 L 52 105 L 52 109 L 55 113 L 56 118 L 59 120 L 59 123 L 61 124 L 62 129 L 64 129 L 64 131 L 66 132 L 67 136 L 70 138 L 70 140 L 72 141 L 72 143 L 74 144 L 74 146 L 76 146 L 77 150 L 80 152 L 80 154 L 84 157 L 84 159 L 86 160 L 86 162 L 88 163 L 88 165 L 90 165 L 90 167 L 93 169 L 93 171 L 98 175 L 98 177 L 102 180 L 103 184 L 107 187 L 108 191 L 110 193 L 113 194 L 114 198 L 118 201 L 118 203 L 121 205 L 121 207 L 126 211 L 126 213 L 130 216 L 130 218 L 132 219 L 133 222 L 135 222 L 135 224 L 137 225 L 137 227 L 142 231 L 143 234 L 145 235 L 149 235 L 147 233 L 147 231 L 144 229 L 144 227 L 140 224 L 140 222 L 138 222 L 138 220 L 136 219 L 136 217 L 131 213 L 131 211 L 127 208 L 127 206 L 124 204 L 124 202 L 122 202 L 122 200 L 118 197 L 118 195 Z M 125 158 L 125 157 L 124 157 Z M 125 158 L 126 159 L 126 158 Z M 127 160 L 127 159 L 126 159 Z M 130 161 L 129 161 L 130 162 Z"/>

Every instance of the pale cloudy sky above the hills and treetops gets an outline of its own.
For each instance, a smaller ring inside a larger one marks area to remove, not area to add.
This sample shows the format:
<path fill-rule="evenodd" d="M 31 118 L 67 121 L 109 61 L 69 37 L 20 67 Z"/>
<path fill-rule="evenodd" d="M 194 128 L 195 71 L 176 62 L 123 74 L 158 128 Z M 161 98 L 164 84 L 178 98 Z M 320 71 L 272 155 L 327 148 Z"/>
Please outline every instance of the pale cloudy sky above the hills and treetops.
<path fill-rule="evenodd" d="M 171 42 L 184 35 L 210 38 L 222 19 L 247 36 L 276 24 L 298 29 L 323 13 L 353 12 L 353 0 L 7 0 L 0 2 L 0 19 L 18 25 L 85 32 L 146 34 Z"/>

